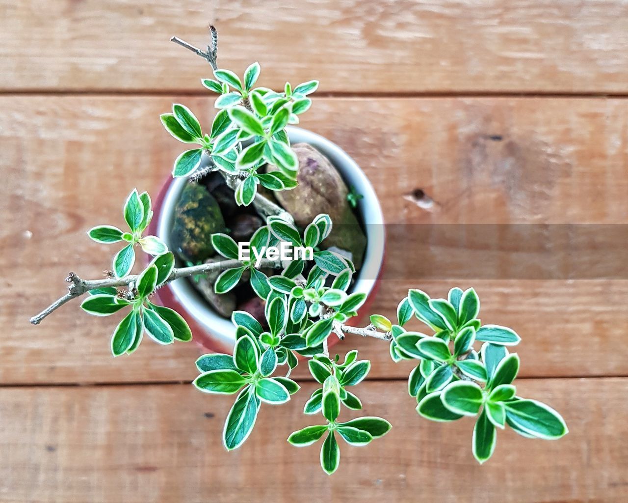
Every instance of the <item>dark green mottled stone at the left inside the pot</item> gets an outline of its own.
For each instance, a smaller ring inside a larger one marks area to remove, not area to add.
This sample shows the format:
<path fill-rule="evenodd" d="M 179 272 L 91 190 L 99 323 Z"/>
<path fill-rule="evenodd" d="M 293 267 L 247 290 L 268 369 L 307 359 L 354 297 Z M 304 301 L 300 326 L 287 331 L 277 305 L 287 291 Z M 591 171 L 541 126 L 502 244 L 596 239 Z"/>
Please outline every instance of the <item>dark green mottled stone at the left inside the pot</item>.
<path fill-rule="evenodd" d="M 224 232 L 220 207 L 206 187 L 189 183 L 175 207 L 175 222 L 170 234 L 174 250 L 183 260 L 204 262 L 215 254 L 212 234 Z"/>

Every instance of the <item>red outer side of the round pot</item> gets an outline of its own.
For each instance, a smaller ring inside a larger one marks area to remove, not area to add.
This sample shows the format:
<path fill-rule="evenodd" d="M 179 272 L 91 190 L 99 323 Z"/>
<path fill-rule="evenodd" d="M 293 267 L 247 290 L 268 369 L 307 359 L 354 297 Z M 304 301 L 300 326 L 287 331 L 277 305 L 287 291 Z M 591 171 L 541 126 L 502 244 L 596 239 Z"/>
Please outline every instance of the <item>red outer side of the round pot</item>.
<path fill-rule="evenodd" d="M 171 182 L 172 182 L 172 179 L 168 177 L 168 179 L 166 179 L 165 184 L 161 186 L 161 189 L 159 193 L 157 194 L 156 199 L 153 201 L 154 218 L 151 220 L 151 223 L 148 226 L 148 232 L 150 235 L 154 236 L 157 234 L 157 223 L 160 218 L 161 207 L 163 206 L 163 200 L 166 197 L 166 193 L 168 192 L 168 189 L 170 188 Z M 147 257 L 147 260 L 146 260 L 147 265 L 150 262 L 150 260 L 151 260 L 151 257 Z M 384 230 L 384 252 L 382 253 L 382 263 L 381 263 L 381 266 L 379 267 L 377 278 L 373 284 L 371 292 L 369 292 L 369 295 L 366 297 L 364 304 L 362 304 L 362 306 L 360 307 L 357 316 L 354 316 L 354 318 L 351 318 L 347 322 L 349 326 L 359 325 L 360 322 L 364 319 L 365 313 L 367 313 L 370 307 L 372 306 L 375 296 L 377 292 L 379 291 L 379 287 L 381 285 L 385 262 L 386 262 L 386 234 Z M 153 299 L 153 300 L 156 300 L 157 304 L 160 304 L 161 306 L 165 306 L 165 307 L 170 307 L 170 309 L 174 309 L 176 312 L 178 312 L 181 315 L 181 317 L 183 317 L 183 319 L 185 319 L 188 326 L 190 327 L 190 330 L 192 330 L 192 334 L 193 334 L 192 340 L 195 341 L 198 346 L 206 350 L 212 351 L 214 353 L 227 353 L 227 354 L 232 353 L 231 346 L 227 346 L 220 343 L 218 340 L 216 340 L 216 338 L 212 335 L 212 333 L 210 333 L 205 328 L 200 326 L 200 324 L 197 323 L 197 321 L 194 319 L 192 314 L 190 314 L 190 312 L 186 309 L 186 307 L 176 299 L 170 285 L 165 285 L 161 287 L 160 289 L 156 290 L 156 292 L 154 293 L 154 297 L 156 297 L 156 299 Z M 330 348 L 332 348 L 333 346 L 337 345 L 339 342 L 340 340 L 337 337 L 332 337 L 328 341 L 328 345 Z"/>

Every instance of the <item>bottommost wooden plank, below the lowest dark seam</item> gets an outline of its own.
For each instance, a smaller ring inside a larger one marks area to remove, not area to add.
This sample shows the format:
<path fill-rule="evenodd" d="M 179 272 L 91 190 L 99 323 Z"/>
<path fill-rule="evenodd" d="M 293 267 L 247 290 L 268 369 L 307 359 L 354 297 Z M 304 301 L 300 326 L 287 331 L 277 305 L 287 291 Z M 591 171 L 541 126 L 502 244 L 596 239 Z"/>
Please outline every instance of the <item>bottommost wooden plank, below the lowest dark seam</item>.
<path fill-rule="evenodd" d="M 387 417 L 393 429 L 364 448 L 342 444 L 331 477 L 318 466 L 320 445 L 285 441 L 321 419 L 302 414 L 312 384 L 288 404 L 264 405 L 251 437 L 232 453 L 220 442 L 232 397 L 190 385 L 3 388 L 0 501 L 281 503 L 359 494 L 364 502 L 420 495 L 425 503 L 620 503 L 628 485 L 626 384 L 520 382 L 522 395 L 561 411 L 570 433 L 542 441 L 500 431 L 493 458 L 480 466 L 471 454 L 472 419 L 431 423 L 414 412 L 403 382 L 367 382 L 356 389 L 363 413 Z"/>

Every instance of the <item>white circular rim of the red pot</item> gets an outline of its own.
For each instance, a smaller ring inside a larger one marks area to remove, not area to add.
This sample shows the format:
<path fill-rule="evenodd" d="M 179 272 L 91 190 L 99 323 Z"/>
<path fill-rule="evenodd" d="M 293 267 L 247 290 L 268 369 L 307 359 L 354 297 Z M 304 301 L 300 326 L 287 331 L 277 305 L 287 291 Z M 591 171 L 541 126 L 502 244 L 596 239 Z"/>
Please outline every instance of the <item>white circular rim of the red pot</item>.
<path fill-rule="evenodd" d="M 349 154 L 324 136 L 295 126 L 287 126 L 286 132 L 291 143 L 308 143 L 325 155 L 338 170 L 345 183 L 348 186 L 353 185 L 357 192 L 364 196 L 358 201 L 356 209 L 364 224 L 367 245 L 362 268 L 358 272 L 351 292 L 364 292 L 367 297 L 370 297 L 376 289 L 376 283 L 381 273 L 385 242 L 384 216 L 371 182 Z M 168 248 L 171 248 L 170 229 L 172 228 L 175 205 L 185 184 L 187 184 L 185 178 L 170 179 L 167 189 L 166 187 L 162 189 L 165 194 L 161 200 L 158 214 L 156 214 L 155 234 L 168 245 Z M 222 318 L 217 314 L 189 281 L 181 278 L 166 285 L 165 288 L 170 289 L 175 301 L 188 311 L 195 324 L 217 339 L 215 341 L 217 346 L 230 347 L 234 345 L 235 328 L 231 320 Z M 364 306 L 362 306 L 363 310 Z"/>

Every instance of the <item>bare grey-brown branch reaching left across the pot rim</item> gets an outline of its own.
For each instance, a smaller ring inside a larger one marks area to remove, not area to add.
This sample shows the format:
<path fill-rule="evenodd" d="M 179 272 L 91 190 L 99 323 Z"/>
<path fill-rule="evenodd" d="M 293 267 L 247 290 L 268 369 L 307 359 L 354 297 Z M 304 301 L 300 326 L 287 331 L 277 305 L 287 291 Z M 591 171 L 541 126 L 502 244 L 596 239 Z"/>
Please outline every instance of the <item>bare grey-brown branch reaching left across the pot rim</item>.
<path fill-rule="evenodd" d="M 259 267 L 277 267 L 277 263 L 274 260 L 264 259 L 260 263 Z M 193 275 L 205 275 L 210 272 L 215 271 L 224 271 L 226 269 L 230 269 L 232 267 L 241 267 L 242 262 L 239 260 L 222 260 L 220 262 L 212 262 L 212 263 L 203 263 L 200 265 L 193 265 L 191 267 L 180 267 L 174 268 L 168 276 L 168 279 L 164 282 L 170 283 L 175 279 L 185 278 Z M 70 272 L 68 277 L 65 279 L 70 286 L 68 286 L 68 293 L 63 297 L 57 299 L 57 301 L 50 304 L 50 306 L 46 307 L 43 311 L 41 311 L 36 316 L 30 319 L 30 322 L 34 325 L 38 325 L 41 323 L 41 320 L 46 318 L 48 314 L 56 311 L 59 307 L 63 306 L 68 301 L 75 299 L 77 297 L 82 296 L 83 294 L 89 292 L 89 290 L 95 290 L 99 288 L 109 288 L 109 287 L 124 287 L 129 285 L 130 283 L 136 281 L 138 279 L 138 275 L 129 274 L 123 278 L 107 278 L 107 279 L 96 279 L 96 280 L 85 280 L 78 277 L 73 272 Z"/>

